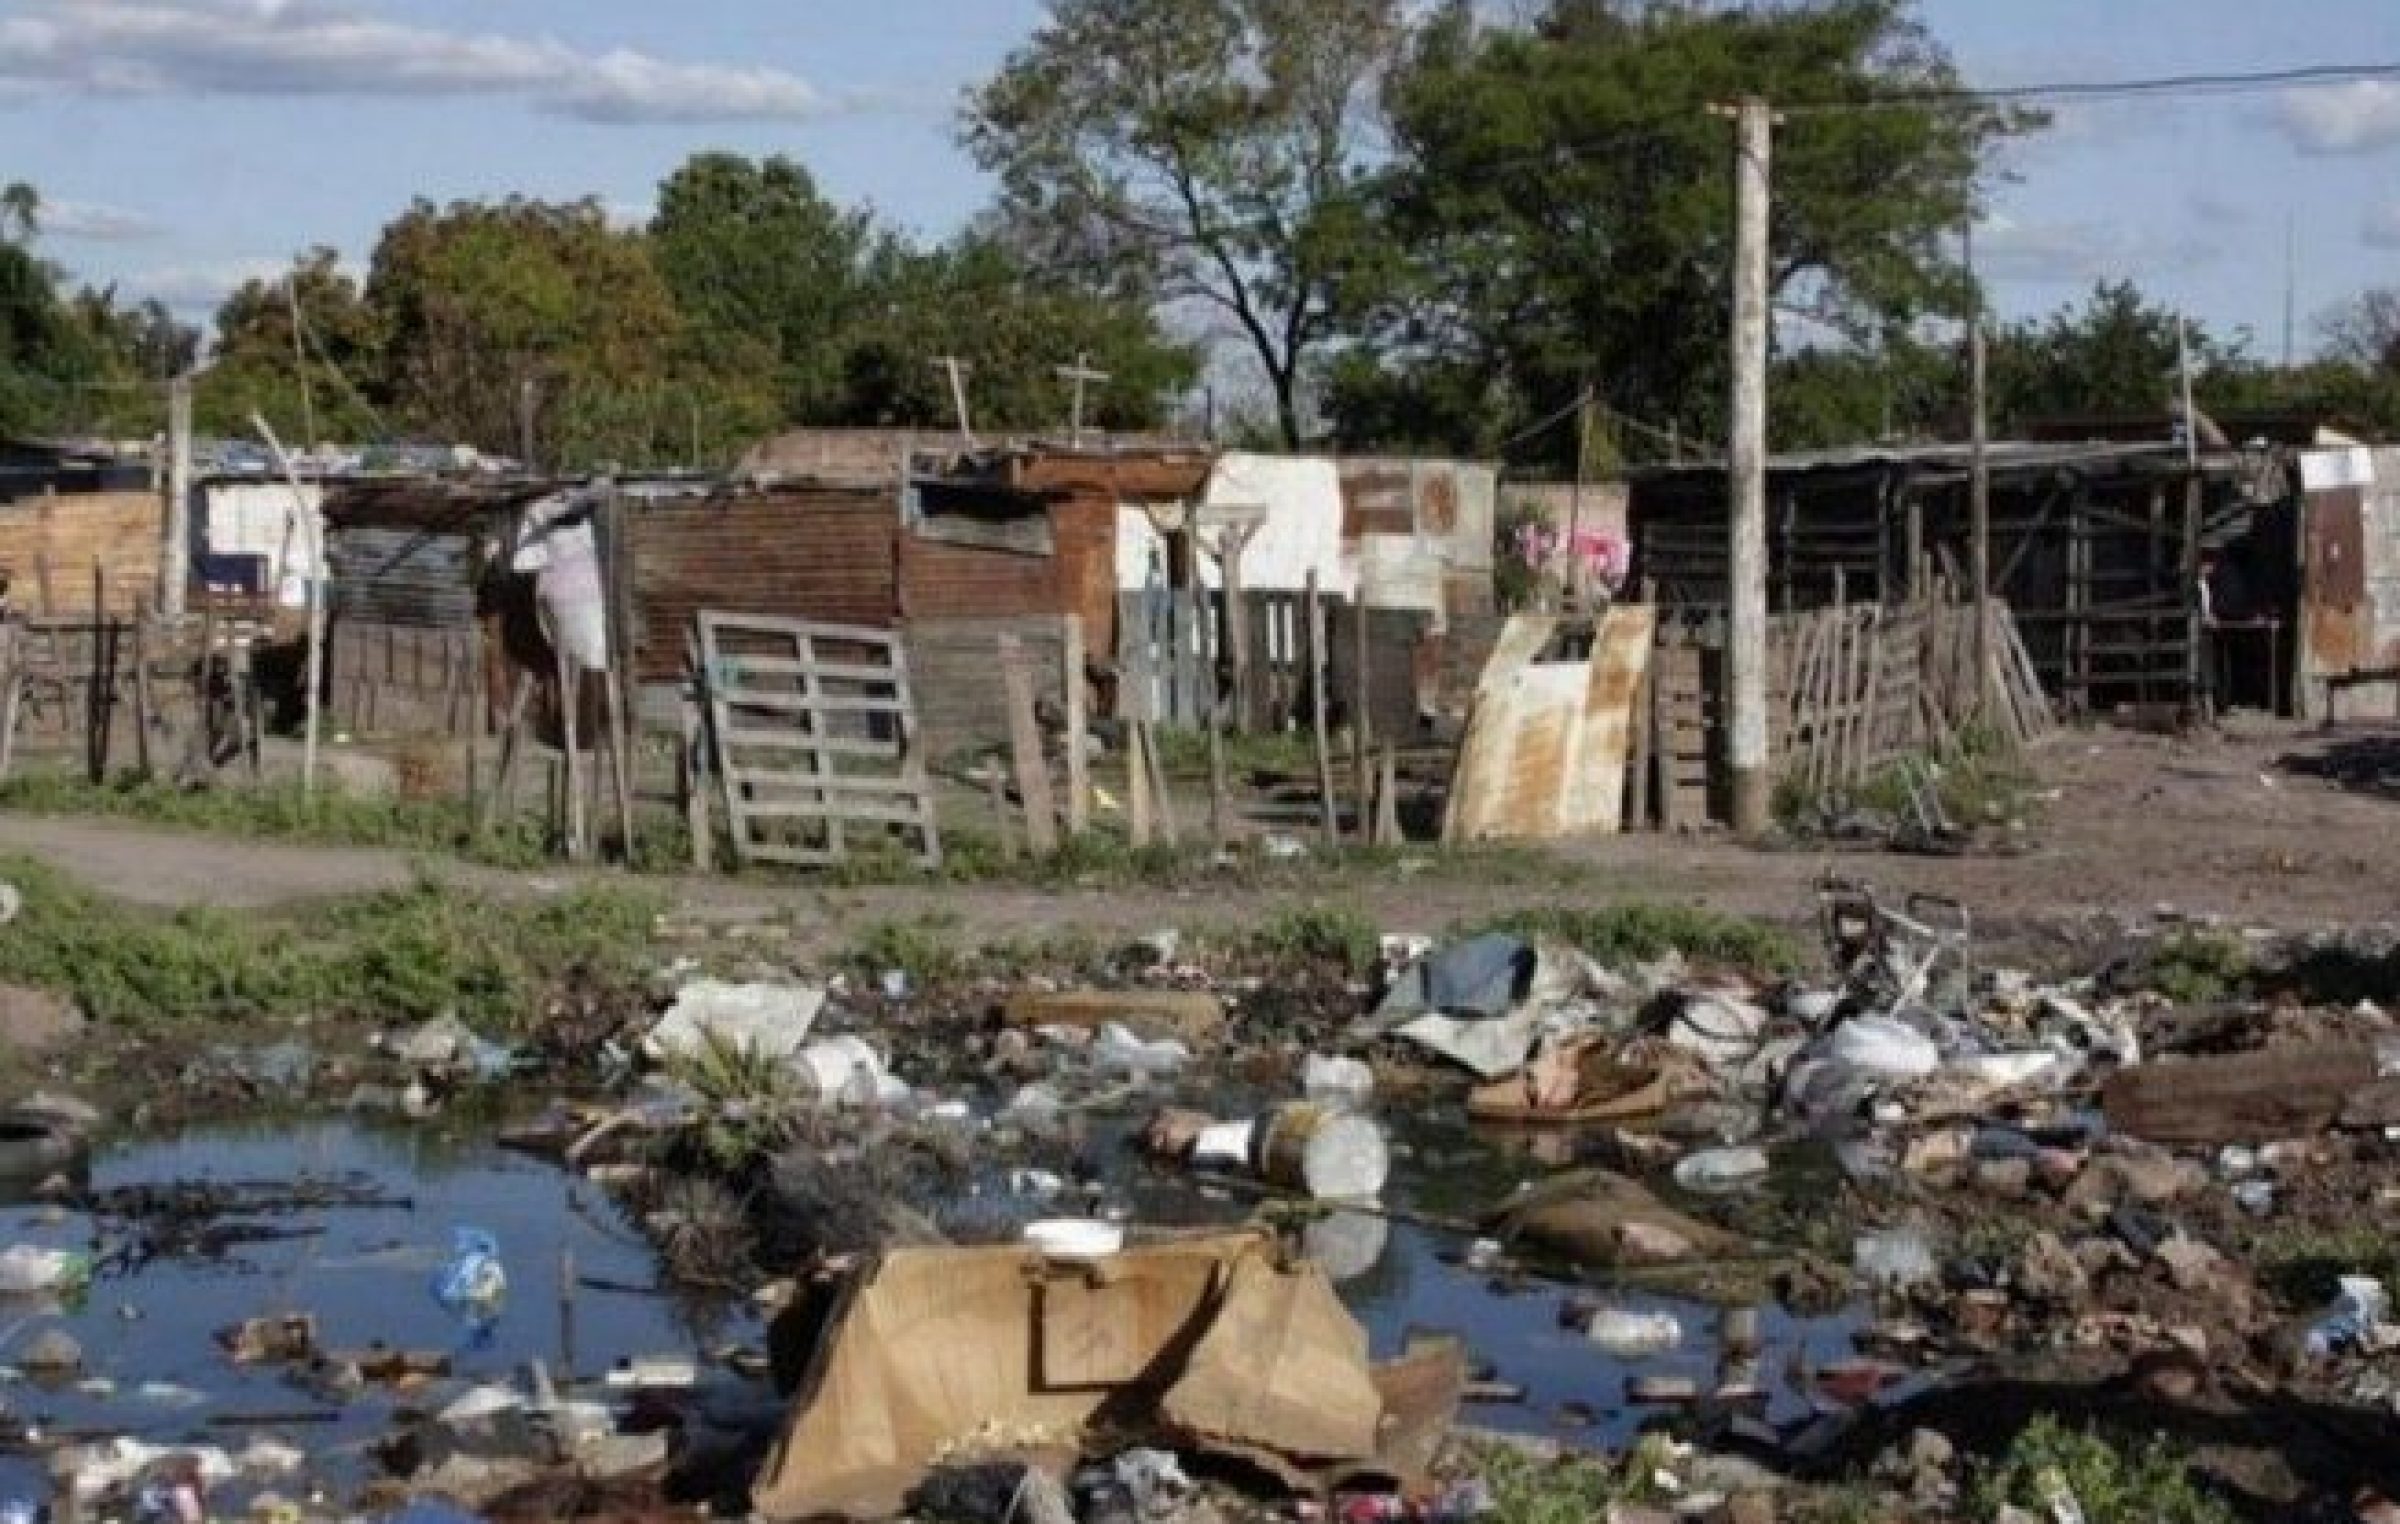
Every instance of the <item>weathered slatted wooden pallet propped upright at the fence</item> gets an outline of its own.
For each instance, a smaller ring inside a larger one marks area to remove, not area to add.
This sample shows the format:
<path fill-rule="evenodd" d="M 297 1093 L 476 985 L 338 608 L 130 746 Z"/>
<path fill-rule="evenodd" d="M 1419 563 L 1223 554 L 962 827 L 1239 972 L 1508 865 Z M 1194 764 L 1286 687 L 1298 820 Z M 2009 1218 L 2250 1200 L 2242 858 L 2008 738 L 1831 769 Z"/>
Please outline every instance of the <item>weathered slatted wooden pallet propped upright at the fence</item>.
<path fill-rule="evenodd" d="M 898 634 L 715 610 L 694 624 L 734 857 L 833 864 L 866 828 L 941 866 Z"/>

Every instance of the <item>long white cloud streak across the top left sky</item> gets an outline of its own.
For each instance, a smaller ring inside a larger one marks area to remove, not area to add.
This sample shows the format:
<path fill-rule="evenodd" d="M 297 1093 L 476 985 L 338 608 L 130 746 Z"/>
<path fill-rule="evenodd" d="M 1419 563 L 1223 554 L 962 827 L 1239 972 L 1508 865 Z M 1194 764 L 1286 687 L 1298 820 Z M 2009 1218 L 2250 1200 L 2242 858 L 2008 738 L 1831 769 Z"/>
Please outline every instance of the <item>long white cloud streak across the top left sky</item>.
<path fill-rule="evenodd" d="M 439 31 L 355 0 L 22 0 L 0 94 L 516 96 L 586 122 L 737 122 L 840 103 L 773 67 Z"/>

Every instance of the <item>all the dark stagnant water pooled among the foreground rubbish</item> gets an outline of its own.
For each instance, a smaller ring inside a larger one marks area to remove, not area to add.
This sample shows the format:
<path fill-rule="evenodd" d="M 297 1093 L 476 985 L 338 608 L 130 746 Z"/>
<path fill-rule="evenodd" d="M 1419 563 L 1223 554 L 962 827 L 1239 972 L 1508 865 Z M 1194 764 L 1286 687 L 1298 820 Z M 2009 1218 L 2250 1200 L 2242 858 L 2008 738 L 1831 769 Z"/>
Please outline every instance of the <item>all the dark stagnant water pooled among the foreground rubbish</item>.
<path fill-rule="evenodd" d="M 1418 1154 L 1423 1162 L 1399 1174 L 1394 1205 L 1440 1207 L 1462 1193 L 1500 1188 L 1507 1159 L 1454 1142 Z M 658 1282 L 658 1265 L 607 1195 L 547 1162 L 502 1150 L 490 1128 L 350 1118 L 209 1126 L 106 1145 L 91 1162 L 98 1193 L 197 1181 L 254 1183 L 271 1193 L 324 1186 L 341 1198 L 372 1200 L 235 1212 L 221 1222 L 269 1229 L 269 1236 L 178 1246 L 178 1253 L 120 1272 L 106 1270 L 106 1255 L 125 1248 L 127 1231 L 139 1224 L 98 1224 L 38 1205 L 0 1207 L 0 1246 L 98 1250 L 103 1258 L 103 1274 L 67 1306 L 0 1298 L 0 1363 L 48 1327 L 72 1334 L 84 1356 L 82 1378 L 67 1382 L 36 1385 L 7 1370 L 0 1411 L 12 1435 L 31 1428 L 50 1442 L 134 1435 L 154 1445 L 228 1450 L 274 1435 L 310 1457 L 305 1476 L 281 1478 L 276 1490 L 305 1493 L 314 1483 L 341 1500 L 377 1474 L 370 1447 L 403 1402 L 439 1406 L 466 1385 L 516 1382 L 533 1361 L 562 1380 L 569 1373 L 593 1380 L 619 1361 L 696 1358 L 763 1342 L 742 1301 L 643 1294 Z M 1159 1176 L 1121 1181 L 1121 1193 L 1140 1222 L 1226 1222 L 1246 1212 L 1236 1198 Z M 461 1226 L 490 1231 L 509 1272 L 506 1303 L 487 1325 L 461 1320 L 432 1296 Z M 1670 1296 L 1610 1296 L 1610 1306 L 1673 1313 L 1685 1330 L 1673 1349 L 1620 1361 L 1562 1325 L 1565 1289 L 1502 1291 L 1488 1272 L 1466 1265 L 1466 1243 L 1454 1234 L 1351 1214 L 1318 1224 L 1310 1238 L 1368 1325 L 1378 1356 L 1394 1354 L 1418 1330 L 1454 1332 L 1500 1382 L 1524 1390 L 1522 1402 L 1471 1409 L 1474 1423 L 1618 1445 L 1661 1411 L 1627 1402 L 1627 1375 L 1690 1375 L 1704 1392 L 1716 1385 L 1716 1308 Z M 569 1277 L 574 1296 L 562 1308 L 559 1289 Z M 442 1354 L 451 1378 L 406 1399 L 374 1385 L 334 1397 L 283 1368 L 233 1363 L 218 1330 L 278 1313 L 314 1315 L 319 1346 L 329 1351 L 382 1344 Z M 1769 1421 L 1805 1416 L 1800 1370 L 1848 1356 L 1858 1322 L 1855 1315 L 1764 1313 L 1757 1375 Z M 0 1454 L 0 1498 L 48 1493 L 38 1450 L 19 1442 Z"/>

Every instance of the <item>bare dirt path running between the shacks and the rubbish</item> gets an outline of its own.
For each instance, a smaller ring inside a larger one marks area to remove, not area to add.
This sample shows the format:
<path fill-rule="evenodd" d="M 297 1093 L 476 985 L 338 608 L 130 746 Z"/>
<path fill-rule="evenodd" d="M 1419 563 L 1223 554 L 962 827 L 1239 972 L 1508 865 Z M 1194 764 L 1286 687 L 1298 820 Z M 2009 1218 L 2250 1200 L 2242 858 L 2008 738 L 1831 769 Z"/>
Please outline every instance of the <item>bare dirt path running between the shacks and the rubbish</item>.
<path fill-rule="evenodd" d="M 1034 890 L 1018 886 L 826 888 L 804 881 L 662 881 L 698 917 L 778 917 L 804 941 L 876 919 L 950 917 L 962 941 L 1078 926 L 1138 931 L 1231 924 L 1296 902 L 1342 900 L 1390 929 L 1442 926 L 1565 886 L 1589 900 L 1682 900 L 1800 922 L 1812 883 L 1836 871 L 1889 893 L 1942 893 L 1992 929 L 2066 929 L 2093 917 L 2174 912 L 2306 931 L 2395 919 L 2400 905 L 2400 732 L 2239 725 L 2201 737 L 2066 732 L 2035 758 L 2040 814 L 2016 857 L 1908 857 L 1874 850 L 1754 850 L 1718 835 L 1625 835 L 1558 847 L 1562 871 L 1428 869 L 1349 876 L 1303 890 Z M 0 816 L 0 852 L 50 862 L 125 900 L 264 907 L 408 883 L 403 852 L 293 847 L 146 830 L 106 821 Z M 485 888 L 566 883 L 574 871 L 502 874 L 444 864 Z"/>

